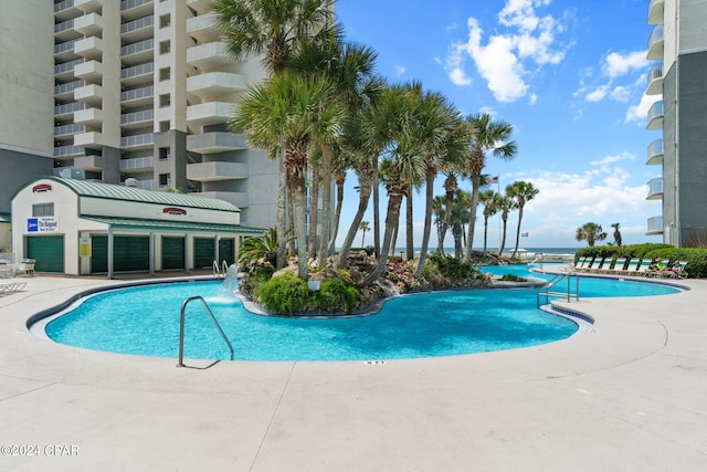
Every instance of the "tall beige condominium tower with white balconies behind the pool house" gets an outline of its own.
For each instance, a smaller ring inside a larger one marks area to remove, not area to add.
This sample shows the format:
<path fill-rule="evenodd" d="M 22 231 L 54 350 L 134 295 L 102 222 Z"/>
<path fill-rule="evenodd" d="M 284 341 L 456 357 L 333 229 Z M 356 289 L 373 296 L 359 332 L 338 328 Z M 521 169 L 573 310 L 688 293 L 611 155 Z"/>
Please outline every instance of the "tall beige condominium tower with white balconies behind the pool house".
<path fill-rule="evenodd" d="M 60 177 L 214 197 L 243 225 L 274 225 L 277 165 L 228 129 L 234 97 L 265 71 L 226 54 L 210 0 L 8 3 L 3 70 L 18 71 L 0 98 L 22 116 L 0 117 L 0 158 L 12 149 L 51 157 Z"/>

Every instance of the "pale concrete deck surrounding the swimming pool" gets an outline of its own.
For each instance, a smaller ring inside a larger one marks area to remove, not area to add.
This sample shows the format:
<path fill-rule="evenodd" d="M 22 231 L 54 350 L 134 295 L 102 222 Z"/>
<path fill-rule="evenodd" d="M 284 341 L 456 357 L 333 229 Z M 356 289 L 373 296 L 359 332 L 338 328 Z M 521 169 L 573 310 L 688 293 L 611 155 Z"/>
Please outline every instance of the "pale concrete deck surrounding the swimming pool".
<path fill-rule="evenodd" d="M 592 328 L 530 348 L 383 364 L 222 361 L 205 369 L 38 338 L 27 331 L 30 316 L 124 281 L 22 281 L 24 291 L 0 296 L 2 471 L 707 464 L 704 280 L 679 281 L 692 290 L 675 295 L 563 302 L 594 317 Z"/>

